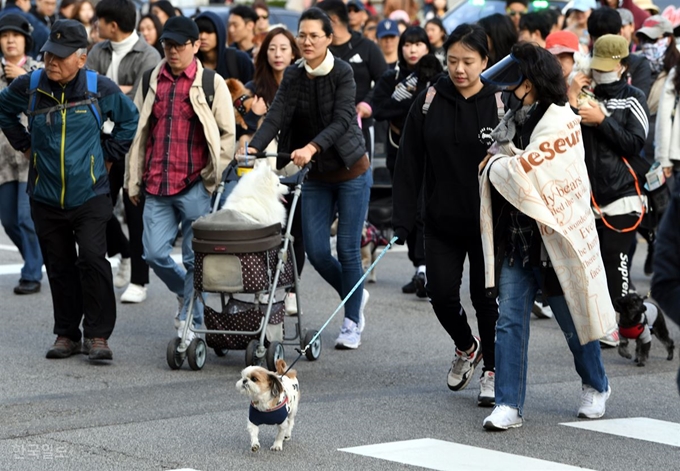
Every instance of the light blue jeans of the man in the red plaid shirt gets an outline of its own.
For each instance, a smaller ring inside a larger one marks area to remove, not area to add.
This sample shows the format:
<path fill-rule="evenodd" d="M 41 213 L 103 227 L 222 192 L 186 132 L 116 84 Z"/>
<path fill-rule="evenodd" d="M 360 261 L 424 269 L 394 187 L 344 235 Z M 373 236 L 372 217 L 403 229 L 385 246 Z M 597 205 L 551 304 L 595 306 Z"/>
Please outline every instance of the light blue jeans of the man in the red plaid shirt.
<path fill-rule="evenodd" d="M 179 195 L 146 195 L 144 203 L 144 260 L 163 283 L 177 296 L 184 297 L 180 319 L 185 320 L 194 290 L 194 251 L 191 247 L 191 224 L 210 212 L 210 194 L 202 182 Z M 182 263 L 180 267 L 170 257 L 177 228 L 182 224 Z M 194 324 L 203 323 L 200 297 L 194 303 Z"/>

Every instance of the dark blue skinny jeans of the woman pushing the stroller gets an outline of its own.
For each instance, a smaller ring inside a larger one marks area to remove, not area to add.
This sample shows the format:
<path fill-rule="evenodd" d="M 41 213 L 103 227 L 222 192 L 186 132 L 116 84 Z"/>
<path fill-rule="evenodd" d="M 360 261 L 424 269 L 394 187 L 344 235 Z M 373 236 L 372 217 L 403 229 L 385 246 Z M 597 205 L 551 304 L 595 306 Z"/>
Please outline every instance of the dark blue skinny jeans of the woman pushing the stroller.
<path fill-rule="evenodd" d="M 310 263 L 341 299 L 363 276 L 361 231 L 373 184 L 369 171 L 342 183 L 309 180 L 302 186 L 302 234 Z M 338 214 L 338 258 L 331 255 L 331 224 Z M 345 304 L 345 317 L 359 322 L 363 283 Z"/>

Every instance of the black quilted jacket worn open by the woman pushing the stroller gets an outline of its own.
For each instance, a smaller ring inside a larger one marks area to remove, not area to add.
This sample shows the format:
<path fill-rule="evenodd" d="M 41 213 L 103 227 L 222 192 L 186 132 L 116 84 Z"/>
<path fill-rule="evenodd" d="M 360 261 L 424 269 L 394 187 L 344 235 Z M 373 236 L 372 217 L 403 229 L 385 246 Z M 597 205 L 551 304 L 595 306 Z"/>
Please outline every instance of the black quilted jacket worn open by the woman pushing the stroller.
<path fill-rule="evenodd" d="M 286 69 L 274 102 L 253 136 L 250 147 L 265 149 L 280 131 L 279 152 L 295 150 L 291 148 L 295 128 L 293 115 L 296 105 L 304 99 L 300 96 L 300 83 L 306 73 L 305 68 L 297 64 Z M 316 77 L 314 81 L 317 90 L 314 101 L 319 105 L 317 116 L 323 127 L 323 131 L 312 139 L 321 148 L 314 157 L 316 170 L 333 171 L 343 165 L 350 168 L 366 153 L 354 104 L 356 85 L 352 68 L 347 62 L 336 59 L 328 75 Z M 331 148 L 335 152 L 327 152 Z M 342 162 L 336 162 L 335 155 Z"/>

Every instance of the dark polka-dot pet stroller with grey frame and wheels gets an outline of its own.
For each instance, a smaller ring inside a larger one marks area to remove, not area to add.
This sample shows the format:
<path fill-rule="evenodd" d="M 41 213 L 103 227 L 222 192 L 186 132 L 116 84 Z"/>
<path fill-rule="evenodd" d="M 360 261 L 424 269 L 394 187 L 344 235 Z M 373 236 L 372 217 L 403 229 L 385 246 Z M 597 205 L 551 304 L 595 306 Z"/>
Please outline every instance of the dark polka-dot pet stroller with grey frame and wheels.
<path fill-rule="evenodd" d="M 227 167 L 220 183 L 211 214 L 192 225 L 194 290 L 187 319 L 192 319 L 196 300 L 204 305 L 205 328 L 186 322 L 181 337 L 168 343 L 166 359 L 171 369 L 181 368 L 184 359 L 192 370 L 205 364 L 208 348 L 217 356 L 229 350 L 245 350 L 246 366 L 260 365 L 276 370 L 276 361 L 284 357 L 284 345 L 304 349 L 317 335 L 316 330 L 303 329 L 302 304 L 298 286 L 293 237 L 290 234 L 293 215 L 309 167 L 281 177 L 282 184 L 292 189 L 292 204 L 285 232 L 281 224 L 254 225 L 236 212 L 217 211 L 225 182 L 235 182 L 252 169 L 255 158 L 277 157 L 290 161 L 290 154 L 237 156 Z M 264 163 L 263 163 L 264 164 Z M 276 291 L 295 288 L 297 316 L 285 316 L 284 302 L 277 302 Z M 208 298 L 219 298 L 219 309 Z M 285 328 L 284 328 L 285 327 Z M 205 334 L 186 342 L 189 331 Z M 317 337 L 305 351 L 308 360 L 321 355 L 321 339 Z"/>

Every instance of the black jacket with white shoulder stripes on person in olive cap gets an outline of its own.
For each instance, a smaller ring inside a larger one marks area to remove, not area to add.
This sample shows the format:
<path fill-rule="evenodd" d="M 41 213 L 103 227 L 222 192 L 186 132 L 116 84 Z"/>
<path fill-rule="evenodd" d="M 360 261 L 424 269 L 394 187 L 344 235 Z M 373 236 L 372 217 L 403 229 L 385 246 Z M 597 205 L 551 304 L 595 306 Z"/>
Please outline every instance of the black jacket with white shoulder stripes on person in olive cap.
<path fill-rule="evenodd" d="M 621 157 L 639 159 L 649 132 L 647 99 L 625 80 L 598 85 L 595 96 L 611 114 L 595 127 L 581 126 L 590 185 L 598 205 L 637 194 Z M 632 164 L 632 163 L 631 163 Z"/>

